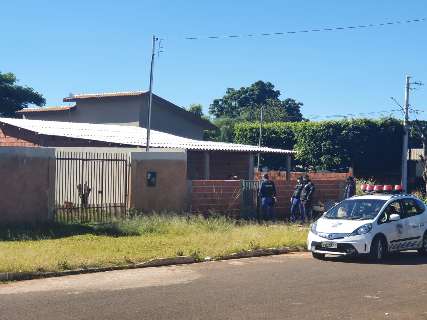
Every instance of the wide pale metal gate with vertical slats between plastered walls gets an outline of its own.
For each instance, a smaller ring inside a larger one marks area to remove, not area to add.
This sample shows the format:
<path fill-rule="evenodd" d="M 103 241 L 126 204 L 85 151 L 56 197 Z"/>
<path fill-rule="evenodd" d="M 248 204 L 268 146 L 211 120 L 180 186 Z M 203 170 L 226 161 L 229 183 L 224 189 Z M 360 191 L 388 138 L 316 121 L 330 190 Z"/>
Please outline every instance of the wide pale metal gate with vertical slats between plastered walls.
<path fill-rule="evenodd" d="M 108 222 L 126 216 L 129 165 L 127 153 L 57 151 L 56 221 Z"/>

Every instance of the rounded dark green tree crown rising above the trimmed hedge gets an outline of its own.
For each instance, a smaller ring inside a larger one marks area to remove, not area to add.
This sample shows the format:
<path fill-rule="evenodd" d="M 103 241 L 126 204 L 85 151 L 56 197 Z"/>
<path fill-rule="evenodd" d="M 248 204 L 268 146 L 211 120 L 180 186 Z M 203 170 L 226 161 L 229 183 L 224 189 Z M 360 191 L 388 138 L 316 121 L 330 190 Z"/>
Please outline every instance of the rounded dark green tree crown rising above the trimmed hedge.
<path fill-rule="evenodd" d="M 280 91 L 270 82 L 257 81 L 249 87 L 238 90 L 228 88 L 221 99 L 215 99 L 209 113 L 215 118 L 236 119 L 238 121 L 258 121 L 261 107 L 265 122 L 302 121 L 302 103 L 288 98 L 280 100 Z"/>

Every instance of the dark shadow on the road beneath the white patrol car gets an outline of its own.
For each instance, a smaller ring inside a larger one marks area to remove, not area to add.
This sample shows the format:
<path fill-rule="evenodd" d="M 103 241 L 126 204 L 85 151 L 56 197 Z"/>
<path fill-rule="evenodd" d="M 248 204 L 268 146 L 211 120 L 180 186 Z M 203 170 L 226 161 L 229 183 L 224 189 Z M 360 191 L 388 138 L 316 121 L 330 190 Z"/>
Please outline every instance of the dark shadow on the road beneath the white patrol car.
<path fill-rule="evenodd" d="M 427 265 L 427 256 L 421 256 L 417 251 L 406 251 L 390 254 L 381 262 L 372 262 L 367 257 L 327 257 L 327 261 L 357 264 L 382 264 L 396 266 Z"/>

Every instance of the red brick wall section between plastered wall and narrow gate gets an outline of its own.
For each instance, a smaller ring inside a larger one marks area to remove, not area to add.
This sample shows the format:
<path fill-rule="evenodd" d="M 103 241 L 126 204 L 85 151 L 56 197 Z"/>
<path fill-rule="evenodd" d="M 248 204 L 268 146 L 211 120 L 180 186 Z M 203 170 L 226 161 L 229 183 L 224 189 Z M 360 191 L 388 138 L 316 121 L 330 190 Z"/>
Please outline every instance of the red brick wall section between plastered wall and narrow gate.
<path fill-rule="evenodd" d="M 212 211 L 238 217 L 240 210 L 240 181 L 191 181 L 190 210 L 194 213 L 209 213 Z"/>

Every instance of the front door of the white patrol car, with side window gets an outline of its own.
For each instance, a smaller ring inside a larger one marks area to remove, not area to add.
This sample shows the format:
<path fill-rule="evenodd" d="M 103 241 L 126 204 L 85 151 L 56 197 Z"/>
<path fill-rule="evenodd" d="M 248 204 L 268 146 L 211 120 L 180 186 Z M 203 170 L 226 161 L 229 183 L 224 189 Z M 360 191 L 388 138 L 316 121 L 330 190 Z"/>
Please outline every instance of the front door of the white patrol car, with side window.
<path fill-rule="evenodd" d="M 388 242 L 389 251 L 400 250 L 402 242 L 407 238 L 407 228 L 405 228 L 405 221 L 400 219 L 398 221 L 390 221 L 392 214 L 398 214 L 402 217 L 402 206 L 399 200 L 393 201 L 387 205 L 378 218 L 378 231 L 382 232 Z"/>

